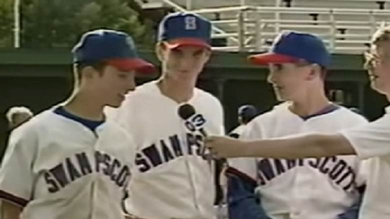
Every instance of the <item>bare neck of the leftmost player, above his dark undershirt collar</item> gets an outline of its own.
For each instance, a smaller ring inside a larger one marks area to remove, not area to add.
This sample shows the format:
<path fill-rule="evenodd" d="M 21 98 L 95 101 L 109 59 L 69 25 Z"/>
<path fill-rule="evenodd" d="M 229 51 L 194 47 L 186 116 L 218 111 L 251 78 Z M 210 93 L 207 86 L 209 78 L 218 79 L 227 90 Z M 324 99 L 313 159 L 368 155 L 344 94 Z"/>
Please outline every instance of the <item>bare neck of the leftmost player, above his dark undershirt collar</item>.
<path fill-rule="evenodd" d="M 103 120 L 104 105 L 96 101 L 96 97 L 79 91 L 70 96 L 63 106 L 66 111 L 89 120 Z"/>

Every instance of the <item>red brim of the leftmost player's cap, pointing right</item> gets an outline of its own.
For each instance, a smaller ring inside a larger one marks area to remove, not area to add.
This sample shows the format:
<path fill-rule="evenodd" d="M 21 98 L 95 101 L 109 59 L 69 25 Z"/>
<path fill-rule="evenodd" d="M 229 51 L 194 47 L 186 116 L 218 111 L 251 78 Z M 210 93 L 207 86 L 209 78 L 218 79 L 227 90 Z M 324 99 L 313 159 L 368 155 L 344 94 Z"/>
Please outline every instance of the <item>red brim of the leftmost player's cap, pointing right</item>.
<path fill-rule="evenodd" d="M 141 58 L 117 58 L 106 61 L 107 64 L 116 67 L 120 71 L 136 71 L 140 73 L 152 73 L 155 71 L 153 64 Z"/>

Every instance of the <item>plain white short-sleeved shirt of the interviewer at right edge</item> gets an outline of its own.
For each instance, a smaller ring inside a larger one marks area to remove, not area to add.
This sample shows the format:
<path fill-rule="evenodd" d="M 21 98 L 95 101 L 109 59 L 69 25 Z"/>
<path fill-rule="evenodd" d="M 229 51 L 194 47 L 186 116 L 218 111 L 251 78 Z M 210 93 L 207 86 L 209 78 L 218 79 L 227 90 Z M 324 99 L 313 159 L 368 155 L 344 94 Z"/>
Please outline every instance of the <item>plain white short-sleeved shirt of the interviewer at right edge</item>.
<path fill-rule="evenodd" d="M 369 158 L 359 219 L 390 218 L 390 106 L 381 118 L 341 133 L 352 144 L 359 158 Z"/>

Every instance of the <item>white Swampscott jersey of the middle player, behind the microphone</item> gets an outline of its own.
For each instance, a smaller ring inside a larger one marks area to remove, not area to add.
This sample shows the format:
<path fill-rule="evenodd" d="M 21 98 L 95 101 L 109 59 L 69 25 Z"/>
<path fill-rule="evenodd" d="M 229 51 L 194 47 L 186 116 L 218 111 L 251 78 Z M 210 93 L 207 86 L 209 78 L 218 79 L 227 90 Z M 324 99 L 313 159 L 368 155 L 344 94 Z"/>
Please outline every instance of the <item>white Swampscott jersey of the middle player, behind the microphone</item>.
<path fill-rule="evenodd" d="M 185 128 L 177 114 L 180 104 L 163 95 L 156 83 L 138 86 L 119 109 L 107 113 L 128 129 L 137 146 L 127 210 L 152 219 L 213 218 L 212 170 L 199 155 L 203 136 Z M 208 134 L 223 133 L 217 98 L 195 88 L 187 103 L 205 118 Z"/>

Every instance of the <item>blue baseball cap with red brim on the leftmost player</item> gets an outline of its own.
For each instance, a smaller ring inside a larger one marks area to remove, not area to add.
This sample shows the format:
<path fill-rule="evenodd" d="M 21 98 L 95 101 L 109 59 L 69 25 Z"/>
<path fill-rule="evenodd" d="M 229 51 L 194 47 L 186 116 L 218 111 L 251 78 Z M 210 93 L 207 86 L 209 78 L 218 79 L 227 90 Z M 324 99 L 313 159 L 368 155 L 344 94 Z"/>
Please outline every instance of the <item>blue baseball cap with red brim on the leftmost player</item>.
<path fill-rule="evenodd" d="M 88 31 L 72 52 L 75 63 L 104 61 L 121 71 L 154 71 L 151 63 L 138 57 L 133 39 L 125 32 L 110 29 Z"/>

